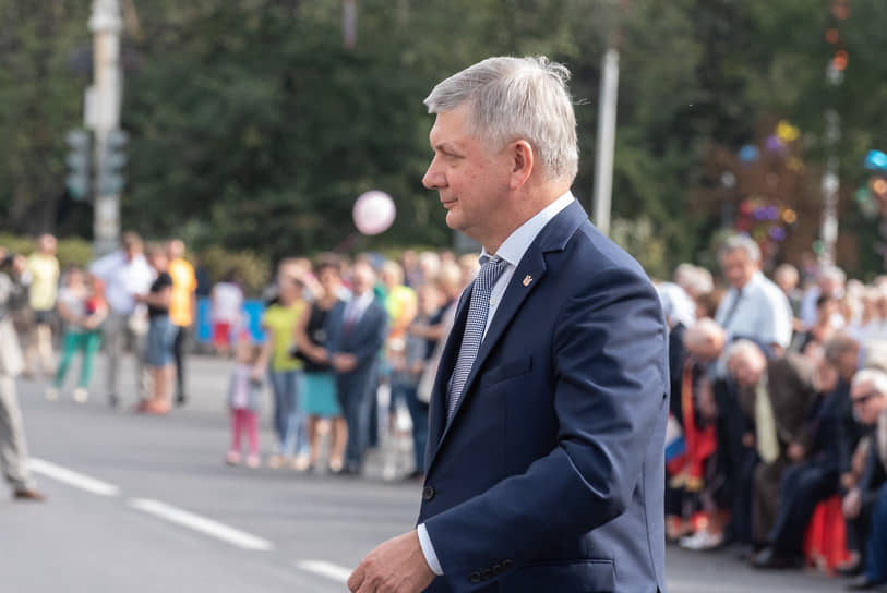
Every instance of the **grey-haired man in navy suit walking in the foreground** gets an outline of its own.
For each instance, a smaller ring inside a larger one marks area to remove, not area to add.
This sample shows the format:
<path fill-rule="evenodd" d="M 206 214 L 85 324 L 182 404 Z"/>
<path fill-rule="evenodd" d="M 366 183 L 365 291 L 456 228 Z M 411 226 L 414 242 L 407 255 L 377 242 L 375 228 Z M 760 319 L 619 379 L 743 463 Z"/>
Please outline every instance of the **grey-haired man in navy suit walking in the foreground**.
<path fill-rule="evenodd" d="M 567 77 L 491 58 L 425 99 L 423 183 L 483 264 L 437 371 L 418 527 L 351 591 L 664 591 L 666 324 L 570 193 Z"/>

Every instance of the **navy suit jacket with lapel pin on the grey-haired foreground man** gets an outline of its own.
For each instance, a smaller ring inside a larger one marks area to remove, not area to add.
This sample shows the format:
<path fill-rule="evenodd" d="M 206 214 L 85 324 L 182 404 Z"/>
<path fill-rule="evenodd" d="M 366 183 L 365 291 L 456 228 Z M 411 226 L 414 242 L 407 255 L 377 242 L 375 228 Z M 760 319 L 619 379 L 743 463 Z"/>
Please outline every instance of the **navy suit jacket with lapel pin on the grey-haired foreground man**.
<path fill-rule="evenodd" d="M 432 592 L 664 591 L 667 329 L 640 266 L 579 204 L 518 264 L 464 397 L 446 389 L 462 296 L 430 407 L 419 522 Z"/>

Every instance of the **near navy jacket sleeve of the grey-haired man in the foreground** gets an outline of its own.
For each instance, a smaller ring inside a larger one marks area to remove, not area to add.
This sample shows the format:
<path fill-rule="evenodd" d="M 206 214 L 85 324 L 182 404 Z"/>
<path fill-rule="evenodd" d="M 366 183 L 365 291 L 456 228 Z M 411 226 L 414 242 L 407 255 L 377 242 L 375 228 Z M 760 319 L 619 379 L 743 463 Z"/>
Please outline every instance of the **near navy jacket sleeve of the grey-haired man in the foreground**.
<path fill-rule="evenodd" d="M 622 515 L 647 452 L 663 446 L 652 443 L 669 394 L 656 292 L 621 268 L 577 288 L 553 328 L 558 443 L 525 473 L 425 521 L 444 578 L 502 558 L 519 566 Z"/>

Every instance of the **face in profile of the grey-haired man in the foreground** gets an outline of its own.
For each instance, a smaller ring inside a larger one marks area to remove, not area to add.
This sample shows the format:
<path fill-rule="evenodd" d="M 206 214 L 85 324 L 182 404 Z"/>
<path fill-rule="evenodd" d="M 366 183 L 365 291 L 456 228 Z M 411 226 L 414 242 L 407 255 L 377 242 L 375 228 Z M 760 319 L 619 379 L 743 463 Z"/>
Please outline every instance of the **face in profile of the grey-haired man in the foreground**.
<path fill-rule="evenodd" d="M 434 158 L 422 184 L 437 190 L 446 225 L 483 242 L 505 206 L 511 167 L 505 150 L 492 150 L 466 130 L 465 106 L 437 114 L 429 140 Z"/>

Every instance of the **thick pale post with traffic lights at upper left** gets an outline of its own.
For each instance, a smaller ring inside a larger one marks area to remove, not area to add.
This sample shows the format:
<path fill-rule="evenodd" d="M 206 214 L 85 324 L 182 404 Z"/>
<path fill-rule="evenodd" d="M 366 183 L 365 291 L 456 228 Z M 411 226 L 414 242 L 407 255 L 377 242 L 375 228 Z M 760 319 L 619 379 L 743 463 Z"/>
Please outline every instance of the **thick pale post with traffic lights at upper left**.
<path fill-rule="evenodd" d="M 93 0 L 89 31 L 93 32 L 95 60 L 92 126 L 95 132 L 95 166 L 103 171 L 108 133 L 120 128 L 123 73 L 120 68 L 120 32 L 123 21 L 118 0 Z M 96 174 L 96 178 L 99 176 Z M 93 255 L 98 257 L 116 250 L 120 240 L 120 195 L 108 193 L 97 184 L 93 222 Z"/>

